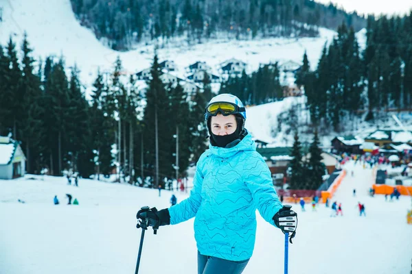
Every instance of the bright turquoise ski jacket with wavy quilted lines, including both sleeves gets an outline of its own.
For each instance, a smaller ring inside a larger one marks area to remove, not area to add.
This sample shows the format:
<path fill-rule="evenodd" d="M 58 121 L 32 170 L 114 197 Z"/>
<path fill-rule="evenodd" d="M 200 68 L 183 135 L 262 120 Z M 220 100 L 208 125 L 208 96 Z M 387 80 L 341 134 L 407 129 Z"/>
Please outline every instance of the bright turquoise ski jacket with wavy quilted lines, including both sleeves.
<path fill-rule="evenodd" d="M 256 209 L 272 225 L 282 208 L 271 172 L 251 134 L 235 147 L 210 146 L 196 166 L 190 197 L 169 208 L 170 224 L 196 216 L 194 236 L 204 256 L 240 261 L 255 245 Z"/>

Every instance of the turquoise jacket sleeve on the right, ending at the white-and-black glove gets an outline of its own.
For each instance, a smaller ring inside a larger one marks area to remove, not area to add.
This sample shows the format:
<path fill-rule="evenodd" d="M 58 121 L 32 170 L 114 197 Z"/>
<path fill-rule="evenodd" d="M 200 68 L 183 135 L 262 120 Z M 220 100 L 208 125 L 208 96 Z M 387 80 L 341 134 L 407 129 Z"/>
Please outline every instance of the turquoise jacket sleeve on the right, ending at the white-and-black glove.
<path fill-rule="evenodd" d="M 252 193 L 260 215 L 275 225 L 272 218 L 282 208 L 282 203 L 273 186 L 271 171 L 258 152 L 253 153 L 244 166 L 244 182 Z"/>

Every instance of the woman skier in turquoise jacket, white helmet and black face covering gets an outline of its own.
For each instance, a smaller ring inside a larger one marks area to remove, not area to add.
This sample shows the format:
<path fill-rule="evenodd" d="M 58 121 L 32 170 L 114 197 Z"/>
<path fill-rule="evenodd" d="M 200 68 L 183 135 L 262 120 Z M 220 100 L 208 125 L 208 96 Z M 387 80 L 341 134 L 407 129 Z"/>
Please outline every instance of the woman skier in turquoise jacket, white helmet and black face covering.
<path fill-rule="evenodd" d="M 210 146 L 197 162 L 190 197 L 169 209 L 139 210 L 137 227 L 158 229 L 196 216 L 198 274 L 240 274 L 255 245 L 256 209 L 292 238 L 297 214 L 282 207 L 271 172 L 244 129 L 246 110 L 238 97 L 211 99 L 205 120 Z"/>

